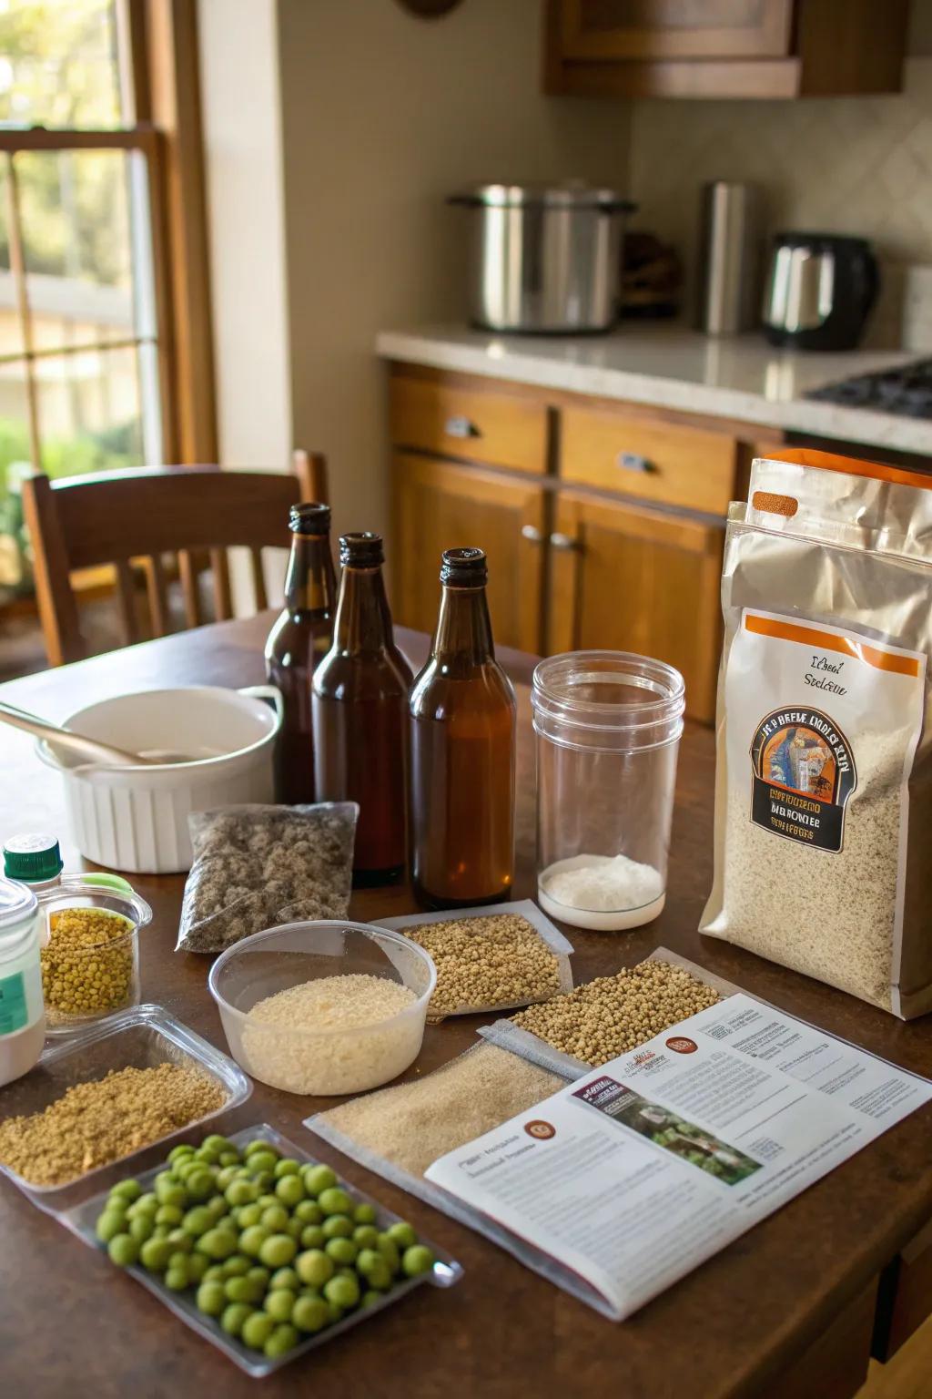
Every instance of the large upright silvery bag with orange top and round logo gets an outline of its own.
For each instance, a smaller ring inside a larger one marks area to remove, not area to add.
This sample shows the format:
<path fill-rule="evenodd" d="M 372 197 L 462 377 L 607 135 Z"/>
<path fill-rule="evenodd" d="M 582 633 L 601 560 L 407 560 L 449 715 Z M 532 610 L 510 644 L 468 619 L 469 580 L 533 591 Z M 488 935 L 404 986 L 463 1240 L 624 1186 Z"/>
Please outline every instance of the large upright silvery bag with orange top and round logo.
<path fill-rule="evenodd" d="M 910 1020 L 932 1009 L 932 477 L 757 460 L 722 569 L 701 932 Z"/>

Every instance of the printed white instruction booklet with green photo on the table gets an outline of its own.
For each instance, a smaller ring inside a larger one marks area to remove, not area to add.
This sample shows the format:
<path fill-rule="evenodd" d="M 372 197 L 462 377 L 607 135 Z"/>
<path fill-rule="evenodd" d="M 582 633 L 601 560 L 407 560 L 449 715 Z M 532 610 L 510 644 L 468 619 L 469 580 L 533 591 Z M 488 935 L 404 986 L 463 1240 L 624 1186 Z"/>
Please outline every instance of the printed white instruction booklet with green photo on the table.
<path fill-rule="evenodd" d="M 622 1321 L 931 1098 L 926 1079 L 734 995 L 425 1174 Z"/>

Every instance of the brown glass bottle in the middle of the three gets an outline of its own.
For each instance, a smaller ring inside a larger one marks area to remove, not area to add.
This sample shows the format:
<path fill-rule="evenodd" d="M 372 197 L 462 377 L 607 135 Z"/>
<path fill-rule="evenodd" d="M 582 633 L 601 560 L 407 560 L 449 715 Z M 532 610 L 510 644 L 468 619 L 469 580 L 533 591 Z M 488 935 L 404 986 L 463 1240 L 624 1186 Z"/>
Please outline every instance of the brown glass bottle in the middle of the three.
<path fill-rule="evenodd" d="M 388 884 L 408 863 L 407 708 L 411 666 L 394 644 L 381 536 L 344 534 L 330 651 L 314 670 L 319 802 L 358 802 L 356 886 Z"/>

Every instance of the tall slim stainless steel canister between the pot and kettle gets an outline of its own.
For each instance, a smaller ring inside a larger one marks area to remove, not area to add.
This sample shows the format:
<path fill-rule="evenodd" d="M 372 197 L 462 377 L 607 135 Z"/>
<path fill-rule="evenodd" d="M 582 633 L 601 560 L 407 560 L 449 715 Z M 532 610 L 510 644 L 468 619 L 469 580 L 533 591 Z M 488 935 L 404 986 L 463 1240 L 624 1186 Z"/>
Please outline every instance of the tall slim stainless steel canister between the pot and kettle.
<path fill-rule="evenodd" d="M 760 315 L 760 192 L 717 179 L 703 185 L 699 316 L 710 336 L 752 330 Z"/>

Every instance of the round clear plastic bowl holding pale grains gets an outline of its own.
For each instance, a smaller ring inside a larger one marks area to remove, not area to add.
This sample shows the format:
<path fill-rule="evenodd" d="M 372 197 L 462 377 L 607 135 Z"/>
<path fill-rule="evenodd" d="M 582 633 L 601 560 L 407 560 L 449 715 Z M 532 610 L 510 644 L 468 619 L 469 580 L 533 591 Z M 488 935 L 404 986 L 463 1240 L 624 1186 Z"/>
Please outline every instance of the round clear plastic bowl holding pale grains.
<path fill-rule="evenodd" d="M 260 1000 L 321 977 L 365 974 L 414 992 L 404 1010 L 369 1025 L 299 1027 L 250 1020 Z M 285 1093 L 365 1093 L 414 1063 L 437 979 L 432 958 L 408 937 L 335 919 L 284 923 L 229 947 L 211 967 L 231 1053 L 253 1079 Z"/>

